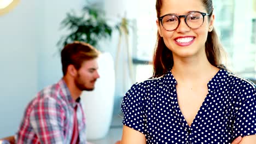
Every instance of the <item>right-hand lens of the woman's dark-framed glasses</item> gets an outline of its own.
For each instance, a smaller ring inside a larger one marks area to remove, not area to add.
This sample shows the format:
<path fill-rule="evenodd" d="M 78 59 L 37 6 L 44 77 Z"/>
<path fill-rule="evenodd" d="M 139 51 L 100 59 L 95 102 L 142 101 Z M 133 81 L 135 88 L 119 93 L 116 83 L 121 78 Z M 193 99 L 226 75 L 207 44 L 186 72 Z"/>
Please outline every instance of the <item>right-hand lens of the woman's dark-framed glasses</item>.
<path fill-rule="evenodd" d="M 189 13 L 186 21 L 190 28 L 199 28 L 203 23 L 203 16 L 197 12 Z"/>

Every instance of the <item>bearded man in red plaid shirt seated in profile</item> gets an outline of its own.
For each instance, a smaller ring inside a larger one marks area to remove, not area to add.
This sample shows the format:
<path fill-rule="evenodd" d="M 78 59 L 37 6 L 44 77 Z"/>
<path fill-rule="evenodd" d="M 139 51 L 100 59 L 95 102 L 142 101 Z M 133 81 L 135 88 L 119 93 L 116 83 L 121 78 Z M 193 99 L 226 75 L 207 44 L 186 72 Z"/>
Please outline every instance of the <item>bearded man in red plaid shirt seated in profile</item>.
<path fill-rule="evenodd" d="M 37 93 L 26 107 L 16 143 L 86 143 L 82 91 L 92 91 L 99 52 L 75 41 L 61 51 L 63 77 Z"/>

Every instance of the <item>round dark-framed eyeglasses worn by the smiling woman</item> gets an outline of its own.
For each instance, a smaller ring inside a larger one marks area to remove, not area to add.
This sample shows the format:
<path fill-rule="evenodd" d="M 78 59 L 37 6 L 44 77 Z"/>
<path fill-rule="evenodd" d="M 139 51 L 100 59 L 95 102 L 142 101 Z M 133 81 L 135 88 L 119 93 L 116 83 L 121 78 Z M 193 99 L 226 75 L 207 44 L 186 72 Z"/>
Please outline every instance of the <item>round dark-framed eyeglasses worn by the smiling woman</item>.
<path fill-rule="evenodd" d="M 174 31 L 179 27 L 181 17 L 184 17 L 187 26 L 196 29 L 202 26 L 206 15 L 210 16 L 211 14 L 202 13 L 200 11 L 191 11 L 187 15 L 167 14 L 159 17 L 159 21 L 161 21 L 162 27 L 164 27 L 166 31 Z"/>

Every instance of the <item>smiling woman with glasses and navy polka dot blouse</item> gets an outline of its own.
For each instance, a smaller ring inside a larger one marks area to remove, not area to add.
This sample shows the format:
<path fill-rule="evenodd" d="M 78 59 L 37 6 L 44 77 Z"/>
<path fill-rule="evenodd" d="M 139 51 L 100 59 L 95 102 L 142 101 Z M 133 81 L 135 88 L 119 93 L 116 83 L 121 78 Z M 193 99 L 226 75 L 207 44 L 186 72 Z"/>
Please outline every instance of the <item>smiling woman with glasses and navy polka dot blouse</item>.
<path fill-rule="evenodd" d="M 153 77 L 125 94 L 121 143 L 255 143 L 256 88 L 227 71 L 212 0 L 156 0 Z"/>

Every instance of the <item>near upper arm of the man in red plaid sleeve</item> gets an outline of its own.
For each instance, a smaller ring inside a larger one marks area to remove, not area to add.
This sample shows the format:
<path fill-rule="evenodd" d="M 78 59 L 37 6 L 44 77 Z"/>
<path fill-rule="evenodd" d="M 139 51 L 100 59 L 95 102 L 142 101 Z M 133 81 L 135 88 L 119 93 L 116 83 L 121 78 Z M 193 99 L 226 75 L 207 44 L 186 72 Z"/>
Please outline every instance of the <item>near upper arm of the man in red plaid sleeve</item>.
<path fill-rule="evenodd" d="M 40 143 L 67 143 L 64 139 L 65 112 L 53 98 L 44 98 L 34 105 L 30 122 Z"/>

